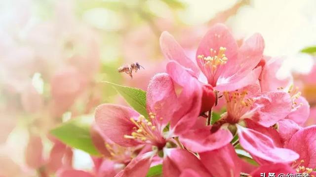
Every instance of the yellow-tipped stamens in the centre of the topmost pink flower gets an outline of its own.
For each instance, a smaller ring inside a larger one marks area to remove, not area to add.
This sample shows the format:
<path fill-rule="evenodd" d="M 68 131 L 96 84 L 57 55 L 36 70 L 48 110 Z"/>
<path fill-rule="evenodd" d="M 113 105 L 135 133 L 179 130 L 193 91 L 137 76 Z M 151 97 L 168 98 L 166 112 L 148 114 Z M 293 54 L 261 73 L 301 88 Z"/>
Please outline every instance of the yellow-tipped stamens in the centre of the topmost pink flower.
<path fill-rule="evenodd" d="M 222 65 L 226 64 L 228 60 L 224 54 L 225 51 L 225 47 L 220 47 L 218 53 L 216 50 L 211 48 L 209 56 L 197 56 L 198 59 L 201 59 L 201 63 L 204 66 L 202 68 L 202 72 L 207 77 L 208 83 L 211 84 L 213 87 L 216 86 L 217 79 L 220 75 L 220 73 L 217 71 L 219 71 L 219 68 L 221 68 Z"/>

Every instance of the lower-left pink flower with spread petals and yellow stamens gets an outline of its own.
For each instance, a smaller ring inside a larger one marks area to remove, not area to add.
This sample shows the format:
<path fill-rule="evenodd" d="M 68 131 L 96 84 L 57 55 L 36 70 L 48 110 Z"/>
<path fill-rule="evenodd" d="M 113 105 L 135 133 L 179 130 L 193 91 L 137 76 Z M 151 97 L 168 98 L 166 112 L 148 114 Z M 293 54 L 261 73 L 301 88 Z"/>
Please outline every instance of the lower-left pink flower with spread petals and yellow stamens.
<path fill-rule="evenodd" d="M 195 124 L 202 102 L 202 89 L 197 79 L 185 70 L 176 69 L 173 72 L 181 72 L 182 77 L 171 79 L 167 74 L 158 74 L 151 80 L 147 89 L 146 101 L 149 119 L 125 106 L 103 104 L 96 109 L 97 125 L 102 134 L 113 142 L 123 147 L 137 145 L 156 147 L 156 150 L 140 154 L 134 158 L 118 174 L 118 177 L 145 176 L 153 156 L 156 153 L 161 153 L 162 150 L 164 152 L 163 164 L 170 163 L 170 159 L 177 160 L 183 157 L 198 161 L 191 152 L 167 148 L 174 147 L 176 143 L 172 137 L 186 133 Z M 180 76 L 178 74 L 172 76 Z M 170 123 L 169 131 L 163 132 L 168 123 Z M 190 168 L 189 164 L 183 160 L 178 160 L 177 163 L 183 165 L 183 168 L 178 169 L 180 172 Z M 164 165 L 163 168 L 174 169 L 175 167 Z M 164 170 L 165 176 L 168 175 L 167 171 Z M 205 173 L 205 169 L 198 173 Z"/>

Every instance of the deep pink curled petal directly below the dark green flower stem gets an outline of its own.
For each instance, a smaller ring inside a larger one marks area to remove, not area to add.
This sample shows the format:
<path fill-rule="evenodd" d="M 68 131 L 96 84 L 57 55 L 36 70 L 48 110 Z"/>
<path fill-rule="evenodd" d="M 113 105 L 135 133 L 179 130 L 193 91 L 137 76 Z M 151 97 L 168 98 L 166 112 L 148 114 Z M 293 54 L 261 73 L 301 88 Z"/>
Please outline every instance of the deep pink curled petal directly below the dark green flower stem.
<path fill-rule="evenodd" d="M 233 139 L 228 129 L 220 128 L 215 133 L 210 132 L 210 126 L 190 130 L 180 136 L 181 143 L 193 152 L 204 152 L 222 148 Z"/>

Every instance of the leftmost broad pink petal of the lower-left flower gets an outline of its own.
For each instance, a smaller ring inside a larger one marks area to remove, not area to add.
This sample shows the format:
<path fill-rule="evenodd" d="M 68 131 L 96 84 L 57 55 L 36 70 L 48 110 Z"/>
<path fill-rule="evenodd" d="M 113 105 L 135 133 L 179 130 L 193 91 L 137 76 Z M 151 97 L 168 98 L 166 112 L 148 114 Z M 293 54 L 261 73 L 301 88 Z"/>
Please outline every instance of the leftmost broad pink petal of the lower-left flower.
<path fill-rule="evenodd" d="M 130 118 L 139 117 L 139 114 L 131 108 L 102 104 L 96 108 L 94 117 L 102 133 L 118 145 L 131 147 L 140 144 L 135 140 L 124 138 L 124 135 L 131 135 L 135 126 Z"/>

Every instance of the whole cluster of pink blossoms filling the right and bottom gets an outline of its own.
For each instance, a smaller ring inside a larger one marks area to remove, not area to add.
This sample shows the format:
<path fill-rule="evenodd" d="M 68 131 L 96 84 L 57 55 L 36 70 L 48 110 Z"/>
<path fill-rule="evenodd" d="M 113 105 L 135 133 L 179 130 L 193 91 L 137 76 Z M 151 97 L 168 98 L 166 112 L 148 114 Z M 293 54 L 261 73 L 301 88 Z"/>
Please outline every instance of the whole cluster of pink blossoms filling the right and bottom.
<path fill-rule="evenodd" d="M 315 176 L 316 126 L 304 127 L 309 104 L 291 79 L 276 77 L 280 59 L 263 55 L 260 34 L 238 45 L 216 24 L 196 61 L 168 32 L 160 47 L 169 62 L 148 86 L 148 115 L 98 106 L 91 134 L 103 157 L 94 159 L 95 173 L 60 176 L 145 177 L 158 165 L 163 177 Z"/>

